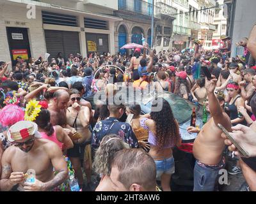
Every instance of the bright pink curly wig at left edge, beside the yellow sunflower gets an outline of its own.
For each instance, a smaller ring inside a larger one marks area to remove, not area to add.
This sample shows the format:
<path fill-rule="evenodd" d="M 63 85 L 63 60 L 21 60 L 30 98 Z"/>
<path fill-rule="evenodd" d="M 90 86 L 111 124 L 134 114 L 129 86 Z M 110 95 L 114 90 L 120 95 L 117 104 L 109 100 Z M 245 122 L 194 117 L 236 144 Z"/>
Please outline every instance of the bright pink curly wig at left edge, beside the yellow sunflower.
<path fill-rule="evenodd" d="M 24 120 L 24 111 L 17 105 L 7 105 L 0 111 L 0 122 L 2 126 L 12 126 L 20 120 Z"/>

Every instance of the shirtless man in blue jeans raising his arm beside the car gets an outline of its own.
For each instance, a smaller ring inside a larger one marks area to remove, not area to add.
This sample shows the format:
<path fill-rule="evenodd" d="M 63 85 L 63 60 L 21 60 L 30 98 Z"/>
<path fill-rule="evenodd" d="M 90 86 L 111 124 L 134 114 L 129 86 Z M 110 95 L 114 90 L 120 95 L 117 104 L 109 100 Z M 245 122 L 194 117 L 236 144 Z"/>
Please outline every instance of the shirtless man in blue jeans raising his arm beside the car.
<path fill-rule="evenodd" d="M 214 77 L 212 75 L 212 77 Z M 220 123 L 230 131 L 231 122 L 227 113 L 223 110 L 225 103 L 220 96 L 214 95 L 217 79 L 211 81 L 205 78 L 205 88 L 209 102 L 206 102 L 207 111 L 211 113 L 211 119 L 204 125 L 195 139 L 193 155 L 196 158 L 194 169 L 194 191 L 214 191 L 218 172 L 223 168 L 222 152 L 225 147 L 224 139 L 221 138 Z"/>

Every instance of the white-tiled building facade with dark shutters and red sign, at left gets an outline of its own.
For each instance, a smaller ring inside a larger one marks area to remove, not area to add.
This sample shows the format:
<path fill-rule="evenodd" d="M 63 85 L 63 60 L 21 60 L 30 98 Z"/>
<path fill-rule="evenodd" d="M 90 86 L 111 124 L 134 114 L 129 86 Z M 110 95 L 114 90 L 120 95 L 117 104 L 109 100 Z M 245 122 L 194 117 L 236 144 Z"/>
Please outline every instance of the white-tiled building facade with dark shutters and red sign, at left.
<path fill-rule="evenodd" d="M 0 59 L 14 61 L 89 52 L 115 53 L 117 0 L 3 0 L 0 2 Z M 109 7 L 111 5 L 111 7 Z"/>

